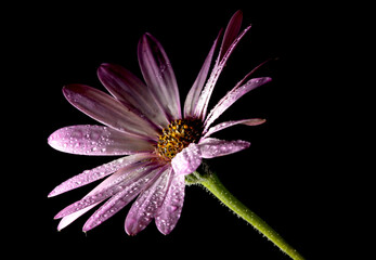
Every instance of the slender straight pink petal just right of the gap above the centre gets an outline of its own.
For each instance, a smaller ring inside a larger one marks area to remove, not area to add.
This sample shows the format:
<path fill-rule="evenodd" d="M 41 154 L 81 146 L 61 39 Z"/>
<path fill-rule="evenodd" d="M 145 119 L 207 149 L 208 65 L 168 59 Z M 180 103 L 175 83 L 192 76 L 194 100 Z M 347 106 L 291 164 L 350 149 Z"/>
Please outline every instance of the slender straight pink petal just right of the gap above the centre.
<path fill-rule="evenodd" d="M 210 68 L 212 55 L 215 53 L 219 37 L 220 37 L 220 34 L 218 35 L 215 43 L 212 44 L 210 52 L 207 55 L 207 57 L 205 58 L 204 65 L 203 65 L 202 69 L 199 70 L 195 82 L 193 83 L 189 94 L 186 95 L 185 104 L 184 104 L 184 117 L 185 118 L 197 117 L 197 115 L 195 115 L 194 112 L 195 112 L 195 108 L 196 108 L 196 105 L 197 105 L 197 102 L 199 99 L 199 94 L 200 94 L 203 87 L 204 87 L 204 83 L 206 81 L 206 78 L 208 77 L 208 72 Z"/>

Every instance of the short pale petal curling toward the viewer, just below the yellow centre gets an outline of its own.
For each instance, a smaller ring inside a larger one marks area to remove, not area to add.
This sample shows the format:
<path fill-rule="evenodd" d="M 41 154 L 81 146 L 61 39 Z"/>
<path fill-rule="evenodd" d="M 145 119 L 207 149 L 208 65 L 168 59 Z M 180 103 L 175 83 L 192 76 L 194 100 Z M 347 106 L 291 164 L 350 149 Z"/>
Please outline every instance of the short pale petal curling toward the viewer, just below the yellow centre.
<path fill-rule="evenodd" d="M 191 143 L 187 147 L 183 148 L 171 160 L 172 169 L 178 176 L 194 172 L 200 164 L 202 154 L 195 143 Z"/>

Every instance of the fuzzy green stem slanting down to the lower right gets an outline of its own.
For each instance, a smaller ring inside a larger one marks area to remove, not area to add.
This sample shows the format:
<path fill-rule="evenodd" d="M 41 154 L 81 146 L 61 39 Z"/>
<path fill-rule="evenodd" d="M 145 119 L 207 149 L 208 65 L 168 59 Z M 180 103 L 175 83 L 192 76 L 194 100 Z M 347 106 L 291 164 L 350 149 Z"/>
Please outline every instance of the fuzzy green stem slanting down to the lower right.
<path fill-rule="evenodd" d="M 242 204 L 234 195 L 232 195 L 220 182 L 217 174 L 209 172 L 200 174 L 197 171 L 193 173 L 196 179 L 196 183 L 204 185 L 209 192 L 211 192 L 219 200 L 233 210 L 236 214 L 251 224 L 256 230 L 267 236 L 272 243 L 274 243 L 282 251 L 286 252 L 291 259 L 303 260 L 304 258 L 295 250 L 285 239 L 282 238 L 269 224 L 267 224 L 260 217 L 249 210 L 244 204 Z"/>

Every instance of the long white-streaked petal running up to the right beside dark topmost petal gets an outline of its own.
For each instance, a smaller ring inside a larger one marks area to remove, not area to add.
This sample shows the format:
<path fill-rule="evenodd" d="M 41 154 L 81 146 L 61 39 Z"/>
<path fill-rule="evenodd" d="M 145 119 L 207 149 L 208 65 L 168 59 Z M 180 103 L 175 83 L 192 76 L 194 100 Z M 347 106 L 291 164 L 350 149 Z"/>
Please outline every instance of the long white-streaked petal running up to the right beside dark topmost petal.
<path fill-rule="evenodd" d="M 234 24 L 237 28 L 236 23 Z M 234 29 L 236 29 L 234 28 Z M 229 28 L 226 30 L 231 30 L 232 28 Z M 250 26 L 248 26 L 247 28 L 245 28 L 243 30 L 243 32 L 236 38 L 234 39 L 234 41 L 232 42 L 232 44 L 228 48 L 228 50 L 225 51 L 225 53 L 223 54 L 224 50 L 221 51 L 221 53 L 218 56 L 217 60 L 217 64 L 215 65 L 213 69 L 211 70 L 210 77 L 199 96 L 198 103 L 197 103 L 197 107 L 196 107 L 196 112 L 195 115 L 199 115 L 200 118 L 205 118 L 206 117 L 206 113 L 207 113 L 207 107 L 209 105 L 209 100 L 211 96 L 211 93 L 215 89 L 215 86 L 217 83 L 217 80 L 219 78 L 219 76 L 222 73 L 222 69 L 225 65 L 225 63 L 228 62 L 231 53 L 235 50 L 235 47 L 237 46 L 237 43 L 239 42 L 239 40 L 244 37 L 244 35 L 250 29 Z M 230 32 L 229 32 L 230 34 Z M 229 36 L 230 37 L 230 36 Z M 221 60 L 220 60 L 221 57 Z"/>

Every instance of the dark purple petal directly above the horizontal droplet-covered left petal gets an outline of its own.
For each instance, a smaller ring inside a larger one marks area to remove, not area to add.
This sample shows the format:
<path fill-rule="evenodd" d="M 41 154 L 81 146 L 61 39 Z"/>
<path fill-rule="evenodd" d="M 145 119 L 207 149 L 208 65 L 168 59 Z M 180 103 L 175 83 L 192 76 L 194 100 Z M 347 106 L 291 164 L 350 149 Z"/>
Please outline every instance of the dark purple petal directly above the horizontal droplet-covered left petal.
<path fill-rule="evenodd" d="M 158 133 L 150 122 L 98 89 L 85 84 L 68 84 L 63 92 L 72 105 L 111 128 L 146 140 L 157 139 Z"/>

